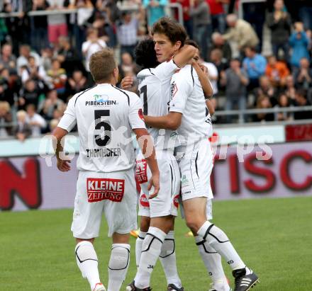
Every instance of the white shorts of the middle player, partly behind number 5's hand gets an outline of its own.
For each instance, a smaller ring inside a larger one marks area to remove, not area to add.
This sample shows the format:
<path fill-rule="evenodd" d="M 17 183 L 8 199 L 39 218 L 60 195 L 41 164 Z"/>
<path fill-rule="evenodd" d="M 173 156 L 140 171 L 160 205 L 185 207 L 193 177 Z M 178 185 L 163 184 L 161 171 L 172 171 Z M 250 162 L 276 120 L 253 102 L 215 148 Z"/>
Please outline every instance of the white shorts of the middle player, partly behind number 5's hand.
<path fill-rule="evenodd" d="M 180 192 L 180 171 L 177 160 L 171 152 L 157 152 L 160 169 L 160 191 L 155 198 L 148 199 L 148 181 L 152 176 L 142 153 L 136 160 L 136 178 L 140 183 L 138 215 L 146 217 L 177 216 Z"/>

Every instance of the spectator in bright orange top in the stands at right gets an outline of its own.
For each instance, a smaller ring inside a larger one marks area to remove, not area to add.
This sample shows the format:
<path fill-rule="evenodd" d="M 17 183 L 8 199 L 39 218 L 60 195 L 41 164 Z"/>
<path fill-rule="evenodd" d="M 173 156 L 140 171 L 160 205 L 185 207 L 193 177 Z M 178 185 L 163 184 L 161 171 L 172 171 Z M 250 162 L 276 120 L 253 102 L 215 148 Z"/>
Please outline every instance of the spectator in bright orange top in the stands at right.
<path fill-rule="evenodd" d="M 268 57 L 267 68 L 265 74 L 271 81 L 274 87 L 284 87 L 286 84 L 286 77 L 290 72 L 284 62 L 277 61 L 277 58 L 273 55 Z"/>

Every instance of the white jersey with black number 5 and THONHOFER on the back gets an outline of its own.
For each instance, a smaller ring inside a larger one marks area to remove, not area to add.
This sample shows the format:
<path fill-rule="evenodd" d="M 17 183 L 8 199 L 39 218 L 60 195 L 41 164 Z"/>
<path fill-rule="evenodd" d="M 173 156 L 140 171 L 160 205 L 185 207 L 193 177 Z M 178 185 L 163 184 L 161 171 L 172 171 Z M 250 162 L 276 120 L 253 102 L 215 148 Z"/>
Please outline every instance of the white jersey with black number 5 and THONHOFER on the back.
<path fill-rule="evenodd" d="M 111 84 L 98 84 L 74 95 L 59 127 L 79 133 L 80 171 L 124 171 L 135 166 L 131 132 L 145 128 L 140 98 Z"/>

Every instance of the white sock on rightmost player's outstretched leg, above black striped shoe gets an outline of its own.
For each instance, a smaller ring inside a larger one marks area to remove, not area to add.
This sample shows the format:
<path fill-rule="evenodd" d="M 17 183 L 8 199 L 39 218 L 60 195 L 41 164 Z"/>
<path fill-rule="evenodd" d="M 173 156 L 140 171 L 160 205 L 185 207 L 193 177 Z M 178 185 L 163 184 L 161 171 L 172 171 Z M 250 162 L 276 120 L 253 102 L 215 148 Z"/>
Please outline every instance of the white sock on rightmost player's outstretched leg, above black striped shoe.
<path fill-rule="evenodd" d="M 245 268 L 244 262 L 240 256 L 238 256 L 228 236 L 223 230 L 216 227 L 216 225 L 206 221 L 197 234 L 206 240 L 213 249 L 220 253 L 233 270 Z"/>

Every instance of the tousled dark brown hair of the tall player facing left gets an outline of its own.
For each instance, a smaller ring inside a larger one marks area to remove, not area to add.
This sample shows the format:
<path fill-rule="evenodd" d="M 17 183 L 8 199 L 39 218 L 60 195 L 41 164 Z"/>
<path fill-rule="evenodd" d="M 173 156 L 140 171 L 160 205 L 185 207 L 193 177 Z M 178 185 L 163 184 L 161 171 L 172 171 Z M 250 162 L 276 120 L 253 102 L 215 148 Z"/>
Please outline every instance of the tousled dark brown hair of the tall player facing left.
<path fill-rule="evenodd" d="M 183 25 L 169 17 L 162 17 L 159 21 L 154 23 L 152 26 L 152 35 L 155 33 L 166 35 L 172 45 L 180 41 L 183 46 L 187 38 L 187 33 Z"/>

